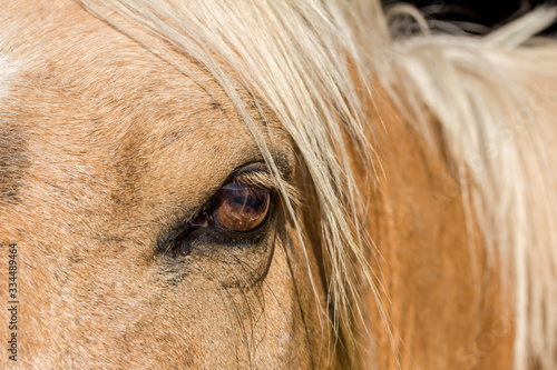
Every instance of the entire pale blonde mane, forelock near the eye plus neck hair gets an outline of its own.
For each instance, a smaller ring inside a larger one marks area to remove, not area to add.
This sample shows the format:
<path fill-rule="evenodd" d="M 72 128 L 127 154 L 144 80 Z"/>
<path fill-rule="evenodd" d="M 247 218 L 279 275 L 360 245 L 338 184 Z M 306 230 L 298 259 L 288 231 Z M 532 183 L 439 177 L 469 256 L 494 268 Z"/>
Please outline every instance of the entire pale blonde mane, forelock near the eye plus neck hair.
<path fill-rule="evenodd" d="M 79 2 L 160 58 L 173 60 L 141 32 L 208 70 L 278 177 L 236 86 L 250 91 L 264 119 L 263 107 L 273 111 L 316 192 L 332 320 L 353 367 L 358 351 L 350 338 L 361 314 L 361 291 L 371 289 L 380 300 L 365 259 L 372 244 L 360 230 L 359 187 L 346 148 L 355 143 L 364 160 L 371 158 L 354 70 L 362 78 L 374 76 L 430 144 L 438 144 L 433 131 L 440 128 L 469 218 L 481 226 L 515 300 L 515 366 L 527 368 L 534 358 L 544 368 L 557 367 L 557 151 L 550 147 L 557 142 L 551 127 L 557 46 L 531 39 L 554 20 L 554 10 L 534 12 L 483 39 L 431 36 L 426 28 L 419 37 L 398 39 L 379 1 Z M 299 228 L 286 186 L 282 192 Z M 368 288 L 359 287 L 361 276 Z M 385 313 L 383 321 L 389 331 Z"/>

